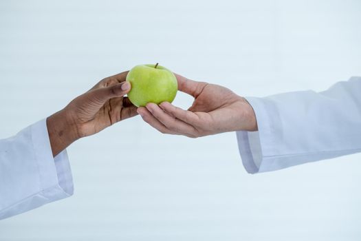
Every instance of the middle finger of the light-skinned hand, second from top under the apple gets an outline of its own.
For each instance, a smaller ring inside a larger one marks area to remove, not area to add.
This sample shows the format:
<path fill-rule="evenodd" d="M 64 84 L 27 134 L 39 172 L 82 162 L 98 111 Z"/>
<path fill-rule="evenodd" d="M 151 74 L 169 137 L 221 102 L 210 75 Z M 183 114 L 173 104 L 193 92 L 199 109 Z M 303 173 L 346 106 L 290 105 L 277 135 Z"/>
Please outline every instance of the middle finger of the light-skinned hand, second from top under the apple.
<path fill-rule="evenodd" d="M 161 109 L 158 105 L 155 105 L 155 103 L 146 104 L 146 109 L 148 109 L 149 112 L 151 112 L 151 114 L 155 118 L 157 118 L 158 121 L 160 121 L 163 125 L 165 125 L 173 132 L 186 134 L 188 136 L 195 136 L 197 133 L 195 127 L 184 123 L 183 121 L 180 121 L 173 116 L 170 116 L 168 113 L 164 112 L 164 110 Z"/>

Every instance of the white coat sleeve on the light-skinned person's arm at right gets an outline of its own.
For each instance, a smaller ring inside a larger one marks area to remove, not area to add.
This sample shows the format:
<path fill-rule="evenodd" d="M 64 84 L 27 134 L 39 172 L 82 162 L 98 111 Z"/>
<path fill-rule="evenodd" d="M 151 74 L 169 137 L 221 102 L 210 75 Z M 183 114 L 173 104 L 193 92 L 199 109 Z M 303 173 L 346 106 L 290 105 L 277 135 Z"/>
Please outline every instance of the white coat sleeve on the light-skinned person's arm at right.
<path fill-rule="evenodd" d="M 258 132 L 237 132 L 251 173 L 274 171 L 361 151 L 361 78 L 324 92 L 301 91 L 246 98 Z"/>

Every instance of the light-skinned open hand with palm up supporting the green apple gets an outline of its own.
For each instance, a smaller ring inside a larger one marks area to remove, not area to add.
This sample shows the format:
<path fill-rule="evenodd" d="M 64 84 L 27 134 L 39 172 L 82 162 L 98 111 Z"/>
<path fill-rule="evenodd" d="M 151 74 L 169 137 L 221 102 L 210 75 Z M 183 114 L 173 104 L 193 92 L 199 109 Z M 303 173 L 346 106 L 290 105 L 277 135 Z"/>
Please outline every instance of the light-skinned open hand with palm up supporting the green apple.
<path fill-rule="evenodd" d="M 219 85 L 191 81 L 176 74 L 178 89 L 195 98 L 188 110 L 171 103 L 148 103 L 137 112 L 146 123 L 164 134 L 191 138 L 234 132 L 256 131 L 256 116 L 245 98 Z"/>

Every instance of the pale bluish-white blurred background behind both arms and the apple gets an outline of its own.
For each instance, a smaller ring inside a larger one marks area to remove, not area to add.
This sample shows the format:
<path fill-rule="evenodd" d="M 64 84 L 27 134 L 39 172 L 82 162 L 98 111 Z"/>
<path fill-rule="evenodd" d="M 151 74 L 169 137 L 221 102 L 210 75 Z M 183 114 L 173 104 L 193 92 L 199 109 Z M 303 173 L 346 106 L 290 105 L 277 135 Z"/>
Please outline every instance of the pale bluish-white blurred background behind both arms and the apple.
<path fill-rule="evenodd" d="M 325 90 L 361 75 L 360 43 L 358 0 L 0 1 L 0 137 L 140 63 L 244 96 Z M 1 241 L 361 239 L 360 154 L 250 175 L 234 133 L 139 116 L 68 151 L 74 196 L 0 221 Z"/>

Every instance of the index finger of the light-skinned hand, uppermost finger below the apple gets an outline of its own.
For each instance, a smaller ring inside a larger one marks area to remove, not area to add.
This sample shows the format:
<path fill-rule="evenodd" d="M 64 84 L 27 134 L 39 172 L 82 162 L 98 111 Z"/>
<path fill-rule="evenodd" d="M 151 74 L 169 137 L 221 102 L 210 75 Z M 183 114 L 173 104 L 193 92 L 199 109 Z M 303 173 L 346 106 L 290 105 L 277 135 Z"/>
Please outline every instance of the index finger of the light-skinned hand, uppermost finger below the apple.
<path fill-rule="evenodd" d="M 199 116 L 197 116 L 193 112 L 181 109 L 168 102 L 161 103 L 160 107 L 164 111 L 171 114 L 172 116 L 179 119 L 180 121 L 183 121 L 184 123 L 188 123 L 189 125 L 193 125 L 193 126 L 199 125 Z"/>

